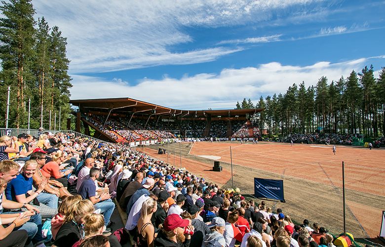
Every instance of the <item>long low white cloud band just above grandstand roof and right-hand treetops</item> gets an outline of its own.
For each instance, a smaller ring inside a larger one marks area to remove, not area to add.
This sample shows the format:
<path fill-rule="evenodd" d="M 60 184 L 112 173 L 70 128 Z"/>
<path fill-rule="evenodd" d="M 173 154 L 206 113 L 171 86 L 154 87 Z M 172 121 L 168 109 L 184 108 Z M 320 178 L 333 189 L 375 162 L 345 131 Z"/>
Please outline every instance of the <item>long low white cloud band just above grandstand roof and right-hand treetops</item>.
<path fill-rule="evenodd" d="M 383 58 L 379 56 L 377 59 Z M 339 80 L 341 76 L 346 78 L 352 70 L 360 71 L 367 62 L 368 58 L 361 58 L 335 64 L 318 62 L 304 67 L 272 62 L 257 68 L 224 69 L 220 74 L 197 74 L 181 79 L 166 76 L 162 80 L 143 79 L 136 85 L 129 85 L 120 79 L 106 81 L 73 75 L 71 98 L 129 97 L 176 109 L 231 109 L 237 100 L 244 97 L 257 102 L 261 95 L 285 93 L 293 83 L 305 81 L 308 87 L 315 85 L 322 76 L 326 76 L 329 82 Z"/>

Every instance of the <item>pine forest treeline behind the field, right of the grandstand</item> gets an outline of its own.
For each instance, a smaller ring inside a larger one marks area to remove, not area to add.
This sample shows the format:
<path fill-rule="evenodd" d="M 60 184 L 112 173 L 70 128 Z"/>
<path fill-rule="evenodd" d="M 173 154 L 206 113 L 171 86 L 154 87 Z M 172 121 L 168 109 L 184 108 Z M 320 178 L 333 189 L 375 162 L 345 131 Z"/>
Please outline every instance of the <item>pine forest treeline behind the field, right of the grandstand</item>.
<path fill-rule="evenodd" d="M 246 98 L 235 109 L 264 108 L 256 121 L 271 134 L 350 133 L 378 137 L 385 131 L 385 67 L 379 77 L 373 66 L 348 78 L 328 83 L 321 77 L 315 86 L 305 82 L 289 86 L 286 93 L 260 97 L 257 104 Z"/>

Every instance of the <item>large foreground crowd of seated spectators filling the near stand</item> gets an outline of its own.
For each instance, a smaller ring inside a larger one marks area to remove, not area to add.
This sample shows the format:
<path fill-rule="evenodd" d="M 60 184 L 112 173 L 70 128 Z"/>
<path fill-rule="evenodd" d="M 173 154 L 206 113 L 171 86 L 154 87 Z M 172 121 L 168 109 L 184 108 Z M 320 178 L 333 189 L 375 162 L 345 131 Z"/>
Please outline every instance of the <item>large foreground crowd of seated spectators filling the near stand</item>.
<path fill-rule="evenodd" d="M 149 247 L 333 247 L 317 223 L 294 225 L 279 208 L 273 213 L 264 201 L 256 205 L 138 150 L 74 134 L 39 139 L 43 148 L 34 136 L 0 137 L 1 246 L 120 247 L 133 239 Z M 127 222 L 106 237 L 116 206 Z"/>

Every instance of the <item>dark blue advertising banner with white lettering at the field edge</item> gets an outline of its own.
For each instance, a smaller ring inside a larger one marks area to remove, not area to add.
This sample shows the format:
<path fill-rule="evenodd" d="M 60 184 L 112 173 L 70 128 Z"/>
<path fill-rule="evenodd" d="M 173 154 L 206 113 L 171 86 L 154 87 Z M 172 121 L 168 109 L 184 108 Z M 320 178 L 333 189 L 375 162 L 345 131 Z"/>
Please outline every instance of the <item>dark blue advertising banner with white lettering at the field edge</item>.
<path fill-rule="evenodd" d="M 285 202 L 283 180 L 254 178 L 254 196 Z"/>

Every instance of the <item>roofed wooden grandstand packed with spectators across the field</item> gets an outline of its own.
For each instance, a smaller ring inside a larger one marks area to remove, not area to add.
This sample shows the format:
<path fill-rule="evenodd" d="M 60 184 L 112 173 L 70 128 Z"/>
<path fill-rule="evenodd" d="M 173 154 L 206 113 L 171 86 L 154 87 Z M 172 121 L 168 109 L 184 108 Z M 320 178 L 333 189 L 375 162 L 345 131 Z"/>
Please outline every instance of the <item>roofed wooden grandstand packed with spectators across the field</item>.
<path fill-rule="evenodd" d="M 178 110 L 131 98 L 71 100 L 78 107 L 76 130 L 110 142 L 175 138 L 258 138 L 260 131 L 250 121 L 264 109 Z"/>

